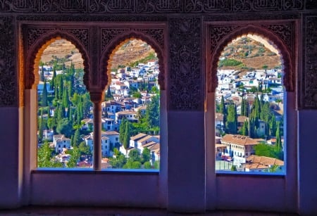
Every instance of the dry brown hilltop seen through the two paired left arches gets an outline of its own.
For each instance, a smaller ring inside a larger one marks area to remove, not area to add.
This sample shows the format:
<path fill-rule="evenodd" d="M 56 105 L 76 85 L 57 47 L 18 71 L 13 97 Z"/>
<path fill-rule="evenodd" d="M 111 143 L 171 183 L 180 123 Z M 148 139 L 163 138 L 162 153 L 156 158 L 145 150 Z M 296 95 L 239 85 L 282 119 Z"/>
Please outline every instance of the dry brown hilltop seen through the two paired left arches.
<path fill-rule="evenodd" d="M 156 58 L 151 46 L 141 40 L 133 39 L 120 46 L 116 51 L 113 55 L 111 68 L 118 68 L 119 65 L 130 65 L 149 57 Z M 75 68 L 83 68 L 82 56 L 78 49 L 65 39 L 56 40 L 47 46 L 42 54 L 41 61 L 50 64 L 56 58 L 64 58 L 66 66 L 69 66 L 73 62 Z"/>

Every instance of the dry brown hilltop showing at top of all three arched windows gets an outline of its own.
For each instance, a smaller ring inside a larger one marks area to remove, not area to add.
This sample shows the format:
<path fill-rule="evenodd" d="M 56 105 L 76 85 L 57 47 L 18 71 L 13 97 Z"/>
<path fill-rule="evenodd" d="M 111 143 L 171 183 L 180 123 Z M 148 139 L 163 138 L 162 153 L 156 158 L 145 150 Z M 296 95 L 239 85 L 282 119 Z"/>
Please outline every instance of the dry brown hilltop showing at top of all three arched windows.
<path fill-rule="evenodd" d="M 132 39 L 120 44 L 112 56 L 111 68 L 116 70 L 120 66 L 135 65 L 140 60 L 156 58 L 154 49 L 139 39 Z M 70 63 L 75 68 L 83 68 L 82 56 L 78 49 L 65 39 L 56 40 L 43 52 L 41 61 L 46 64 L 52 63 L 54 58 L 63 59 L 66 66 Z M 265 39 L 249 35 L 233 40 L 225 47 L 220 59 L 233 59 L 240 65 L 223 65 L 221 69 L 252 70 L 261 69 L 263 65 L 268 68 L 278 68 L 281 65 L 278 51 Z"/>

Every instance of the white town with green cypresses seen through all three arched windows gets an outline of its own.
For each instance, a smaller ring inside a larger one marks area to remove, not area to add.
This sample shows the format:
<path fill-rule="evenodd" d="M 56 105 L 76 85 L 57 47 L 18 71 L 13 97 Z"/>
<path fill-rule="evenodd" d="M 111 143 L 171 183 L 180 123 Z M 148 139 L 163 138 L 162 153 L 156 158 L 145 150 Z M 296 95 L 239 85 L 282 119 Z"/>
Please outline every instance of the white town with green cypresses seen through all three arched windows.
<path fill-rule="evenodd" d="M 235 43 L 228 44 L 218 63 L 216 171 L 283 172 L 280 61 L 260 61 L 261 67 L 253 68 L 244 61 L 278 56 L 251 38 Z M 118 51 L 127 56 L 134 49 L 144 56 L 112 64 L 101 103 L 104 169 L 159 169 L 158 59 L 144 42 L 135 45 L 131 40 Z M 84 72 L 73 64 L 76 53 L 53 55 L 39 64 L 38 167 L 92 167 L 92 103 L 82 82 Z"/>

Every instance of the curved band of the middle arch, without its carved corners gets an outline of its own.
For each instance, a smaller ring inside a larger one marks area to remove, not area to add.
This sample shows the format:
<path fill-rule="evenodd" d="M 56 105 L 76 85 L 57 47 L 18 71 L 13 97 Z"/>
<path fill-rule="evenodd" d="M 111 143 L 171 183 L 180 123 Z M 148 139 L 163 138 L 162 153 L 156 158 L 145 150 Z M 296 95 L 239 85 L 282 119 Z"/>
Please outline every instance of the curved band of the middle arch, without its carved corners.
<path fill-rule="evenodd" d="M 165 69 L 165 58 L 163 55 L 163 49 L 162 47 L 156 42 L 156 39 L 153 39 L 152 37 L 147 36 L 146 34 L 142 32 L 136 32 L 136 31 L 130 31 L 125 32 L 124 34 L 121 34 L 118 37 L 115 37 L 109 44 L 106 44 L 106 47 L 104 47 L 104 51 L 101 54 L 101 62 L 100 62 L 100 71 L 99 74 L 101 75 L 101 89 L 105 89 L 108 82 L 110 81 L 109 77 L 111 77 L 111 61 L 113 58 L 114 53 L 125 44 L 125 42 L 128 42 L 131 39 L 139 39 L 143 42 L 146 42 L 151 46 L 152 49 L 154 49 L 157 58 L 159 58 L 159 86 L 161 90 L 165 90 L 165 79 L 166 79 L 166 69 Z"/>

